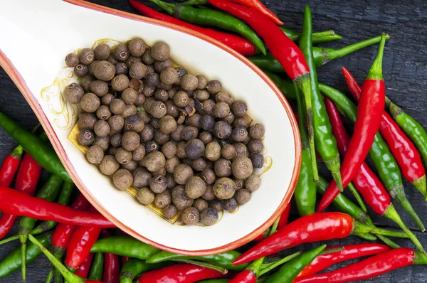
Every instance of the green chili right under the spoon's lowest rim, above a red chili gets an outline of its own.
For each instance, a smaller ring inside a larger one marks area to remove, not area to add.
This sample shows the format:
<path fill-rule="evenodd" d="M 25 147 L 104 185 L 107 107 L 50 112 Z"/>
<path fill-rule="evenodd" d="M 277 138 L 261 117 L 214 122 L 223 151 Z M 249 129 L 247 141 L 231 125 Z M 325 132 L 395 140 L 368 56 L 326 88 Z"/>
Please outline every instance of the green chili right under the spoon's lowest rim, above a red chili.
<path fill-rule="evenodd" d="M 231 250 L 229 252 L 222 252 L 217 255 L 206 255 L 206 256 L 191 256 L 191 255 L 176 255 L 172 252 L 157 252 L 157 254 L 152 255 L 147 260 L 147 263 L 153 264 L 158 262 L 166 262 L 171 260 L 200 260 L 201 262 L 209 262 L 213 265 L 217 265 L 219 267 L 223 267 L 230 270 L 242 271 L 245 269 L 246 265 L 233 265 L 233 261 L 241 256 L 240 252 L 236 252 L 235 250 Z"/>

